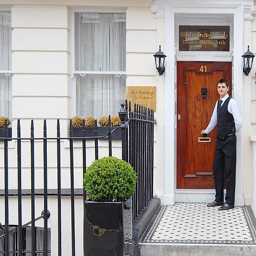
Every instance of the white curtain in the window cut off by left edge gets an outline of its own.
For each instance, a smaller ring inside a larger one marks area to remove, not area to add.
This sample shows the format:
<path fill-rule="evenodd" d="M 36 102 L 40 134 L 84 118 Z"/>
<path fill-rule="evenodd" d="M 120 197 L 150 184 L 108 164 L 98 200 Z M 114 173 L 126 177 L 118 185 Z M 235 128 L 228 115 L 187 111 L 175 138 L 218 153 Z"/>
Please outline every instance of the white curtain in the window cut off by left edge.
<path fill-rule="evenodd" d="M 10 11 L 0 11 L 0 70 L 11 70 Z M 5 73 L 0 73 L 0 115 L 11 118 L 11 79 Z"/>

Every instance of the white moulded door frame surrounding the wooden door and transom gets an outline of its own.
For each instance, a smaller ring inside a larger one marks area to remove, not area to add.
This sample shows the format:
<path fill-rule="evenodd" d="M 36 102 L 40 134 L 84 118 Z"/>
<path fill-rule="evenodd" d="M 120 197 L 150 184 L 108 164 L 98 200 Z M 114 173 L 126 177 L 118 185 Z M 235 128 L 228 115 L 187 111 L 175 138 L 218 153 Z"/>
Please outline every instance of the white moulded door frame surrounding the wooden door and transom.
<path fill-rule="evenodd" d="M 175 14 L 228 14 L 233 15 L 233 97 L 240 109 L 243 98 L 243 20 L 252 19 L 253 0 L 156 0 L 151 6 L 156 18 L 165 20 L 165 145 L 164 145 L 164 196 L 163 204 L 173 205 L 179 193 L 187 201 L 208 201 L 214 199 L 214 189 L 176 189 L 176 49 L 175 49 Z M 177 35 L 176 35 L 177 36 Z M 201 59 L 203 61 L 203 59 Z M 205 61 L 209 59 L 205 59 Z M 236 205 L 244 205 L 242 179 L 242 132 L 237 134 L 237 175 L 236 175 Z M 203 199 L 202 199 L 202 195 Z"/>

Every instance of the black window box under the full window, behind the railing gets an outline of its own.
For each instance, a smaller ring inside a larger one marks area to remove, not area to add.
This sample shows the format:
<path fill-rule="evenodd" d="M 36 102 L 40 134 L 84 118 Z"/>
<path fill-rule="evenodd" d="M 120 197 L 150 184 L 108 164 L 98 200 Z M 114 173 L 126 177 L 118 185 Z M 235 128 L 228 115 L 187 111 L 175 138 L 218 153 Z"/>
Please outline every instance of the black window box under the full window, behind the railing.
<path fill-rule="evenodd" d="M 97 127 L 98 136 L 104 136 L 108 133 L 109 127 Z M 85 137 L 94 137 L 96 136 L 94 133 L 94 127 L 85 127 Z M 72 127 L 72 136 L 73 137 L 84 137 L 82 134 L 82 127 Z M 118 127 L 111 133 L 113 141 L 121 141 L 122 139 L 122 131 L 121 128 Z M 102 140 L 108 140 L 108 136 L 106 138 L 101 138 Z"/>

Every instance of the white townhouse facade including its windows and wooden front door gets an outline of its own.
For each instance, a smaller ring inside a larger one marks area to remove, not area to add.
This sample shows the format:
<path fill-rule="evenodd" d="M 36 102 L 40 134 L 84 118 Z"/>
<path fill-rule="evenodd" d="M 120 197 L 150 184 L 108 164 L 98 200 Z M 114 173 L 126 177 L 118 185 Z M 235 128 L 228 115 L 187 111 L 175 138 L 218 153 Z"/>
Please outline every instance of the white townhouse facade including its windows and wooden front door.
<path fill-rule="evenodd" d="M 0 115 L 11 119 L 13 135 L 20 119 L 23 137 L 30 136 L 31 119 L 35 136 L 47 119 L 48 136 L 55 137 L 59 118 L 67 137 L 73 116 L 118 114 L 127 88 L 155 88 L 154 195 L 166 205 L 208 202 L 216 131 L 206 141 L 200 131 L 218 99 L 217 81 L 225 78 L 243 118 L 236 205 L 251 205 L 255 214 L 256 61 L 246 76 L 242 58 L 247 46 L 256 53 L 255 13 L 253 0 L 0 0 Z M 152 56 L 159 45 L 167 56 L 162 76 Z M 63 147 L 68 151 L 68 143 Z M 121 157 L 121 142 L 114 147 Z M 9 148 L 15 151 L 16 143 Z M 48 152 L 51 162 L 55 151 Z"/>

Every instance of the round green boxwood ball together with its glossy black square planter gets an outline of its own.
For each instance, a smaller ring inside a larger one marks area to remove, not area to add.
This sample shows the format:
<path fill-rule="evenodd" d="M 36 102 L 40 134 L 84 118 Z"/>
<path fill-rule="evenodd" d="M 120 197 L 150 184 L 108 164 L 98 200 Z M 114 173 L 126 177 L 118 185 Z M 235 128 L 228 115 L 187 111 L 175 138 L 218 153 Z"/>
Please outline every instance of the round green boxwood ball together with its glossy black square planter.
<path fill-rule="evenodd" d="M 95 160 L 87 168 L 86 256 L 123 255 L 123 208 L 135 191 L 136 179 L 129 163 L 112 156 Z"/>

